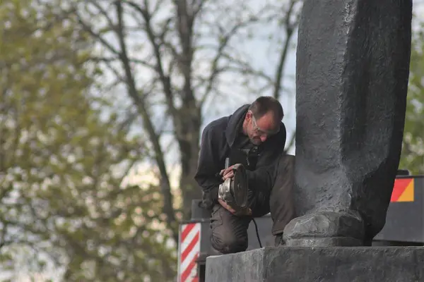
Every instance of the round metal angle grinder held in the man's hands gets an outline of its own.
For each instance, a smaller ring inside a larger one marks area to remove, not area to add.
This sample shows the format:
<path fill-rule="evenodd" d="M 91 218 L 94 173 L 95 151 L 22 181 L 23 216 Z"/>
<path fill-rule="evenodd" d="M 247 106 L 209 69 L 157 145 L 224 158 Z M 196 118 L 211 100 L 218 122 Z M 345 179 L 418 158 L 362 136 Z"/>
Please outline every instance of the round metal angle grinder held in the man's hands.
<path fill-rule="evenodd" d="M 225 159 L 225 168 L 230 166 L 229 159 Z M 225 179 L 219 185 L 218 198 L 227 203 L 232 209 L 241 212 L 247 207 L 247 195 L 249 192 L 249 185 L 247 183 L 246 168 L 242 164 L 236 164 L 232 168 L 234 176 Z"/>

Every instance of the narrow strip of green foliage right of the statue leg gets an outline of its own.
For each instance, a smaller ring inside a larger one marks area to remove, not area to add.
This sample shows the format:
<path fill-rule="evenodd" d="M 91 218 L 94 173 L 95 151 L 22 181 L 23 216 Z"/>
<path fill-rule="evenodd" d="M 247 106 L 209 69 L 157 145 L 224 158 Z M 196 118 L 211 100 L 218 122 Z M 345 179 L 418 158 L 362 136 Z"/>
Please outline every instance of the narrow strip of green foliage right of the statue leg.
<path fill-rule="evenodd" d="M 424 174 L 424 25 L 413 36 L 404 145 L 400 168 Z"/>

